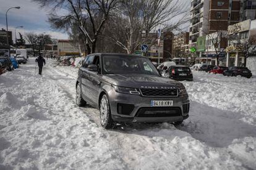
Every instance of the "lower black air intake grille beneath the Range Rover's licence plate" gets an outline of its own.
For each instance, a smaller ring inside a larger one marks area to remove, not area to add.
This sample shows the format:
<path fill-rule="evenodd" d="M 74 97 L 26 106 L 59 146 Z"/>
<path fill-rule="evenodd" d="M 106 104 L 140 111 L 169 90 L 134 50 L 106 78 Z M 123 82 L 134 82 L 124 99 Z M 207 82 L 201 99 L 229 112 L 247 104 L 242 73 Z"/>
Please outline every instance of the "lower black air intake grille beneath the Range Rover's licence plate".
<path fill-rule="evenodd" d="M 181 116 L 181 109 L 179 107 L 168 108 L 140 108 L 136 114 L 137 117 L 171 117 Z"/>

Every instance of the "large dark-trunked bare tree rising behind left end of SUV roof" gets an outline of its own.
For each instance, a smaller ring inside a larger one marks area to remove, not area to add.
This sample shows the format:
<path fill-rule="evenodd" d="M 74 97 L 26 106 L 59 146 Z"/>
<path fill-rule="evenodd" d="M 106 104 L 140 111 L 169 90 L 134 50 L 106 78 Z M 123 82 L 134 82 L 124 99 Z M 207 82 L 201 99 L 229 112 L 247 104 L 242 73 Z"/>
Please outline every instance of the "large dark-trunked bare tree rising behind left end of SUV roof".
<path fill-rule="evenodd" d="M 59 20 L 72 19 L 78 24 L 79 30 L 87 39 L 87 52 L 95 52 L 96 41 L 99 34 L 104 28 L 106 20 L 109 18 L 111 10 L 115 9 L 118 0 L 33 0 L 41 4 L 41 6 L 49 6 L 53 9 L 52 14 L 57 12 L 56 9 L 65 7 L 69 14 L 57 15 Z M 90 23 L 90 26 L 86 24 Z M 90 33 L 90 31 L 92 33 Z"/>

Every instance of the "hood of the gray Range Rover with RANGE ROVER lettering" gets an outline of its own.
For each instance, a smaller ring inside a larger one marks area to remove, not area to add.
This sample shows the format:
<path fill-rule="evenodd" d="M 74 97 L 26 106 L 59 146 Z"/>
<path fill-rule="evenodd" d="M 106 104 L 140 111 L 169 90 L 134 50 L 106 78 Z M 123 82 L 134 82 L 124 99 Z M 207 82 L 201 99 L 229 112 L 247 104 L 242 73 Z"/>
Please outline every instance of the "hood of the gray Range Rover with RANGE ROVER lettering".
<path fill-rule="evenodd" d="M 163 88 L 163 87 L 177 87 L 182 83 L 173 79 L 164 78 L 153 75 L 105 75 L 104 79 L 110 84 L 122 87 L 133 88 Z"/>

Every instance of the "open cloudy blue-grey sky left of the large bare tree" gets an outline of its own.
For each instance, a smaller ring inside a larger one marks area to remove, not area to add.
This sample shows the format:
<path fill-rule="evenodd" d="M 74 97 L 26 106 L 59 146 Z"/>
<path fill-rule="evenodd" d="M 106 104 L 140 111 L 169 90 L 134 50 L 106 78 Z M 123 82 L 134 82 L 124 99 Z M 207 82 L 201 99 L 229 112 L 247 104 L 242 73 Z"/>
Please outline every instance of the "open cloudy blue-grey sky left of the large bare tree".
<path fill-rule="evenodd" d="M 190 2 L 190 0 L 181 0 Z M 42 9 L 35 2 L 30 0 L 0 0 L 0 30 L 6 29 L 6 10 L 9 7 L 20 6 L 20 9 L 11 9 L 8 12 L 8 30 L 13 31 L 12 36 L 14 39 L 14 28 L 16 26 L 24 26 L 24 28 L 17 28 L 18 32 L 25 34 L 33 31 L 34 33 L 47 33 L 51 34 L 53 38 L 67 39 L 68 36 L 63 31 L 51 29 L 47 22 L 47 14 L 49 9 Z M 187 27 L 187 26 L 186 26 Z"/>

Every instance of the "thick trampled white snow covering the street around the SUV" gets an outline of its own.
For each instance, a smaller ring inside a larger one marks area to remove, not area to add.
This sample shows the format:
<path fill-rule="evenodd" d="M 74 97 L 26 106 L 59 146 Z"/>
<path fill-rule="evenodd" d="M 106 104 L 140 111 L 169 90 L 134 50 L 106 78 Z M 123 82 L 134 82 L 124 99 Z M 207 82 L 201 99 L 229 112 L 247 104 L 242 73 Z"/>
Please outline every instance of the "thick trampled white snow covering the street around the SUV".
<path fill-rule="evenodd" d="M 105 130 L 75 105 L 77 68 L 35 59 L 0 76 L 0 169 L 256 169 L 256 77 L 194 71 L 190 117 Z"/>

